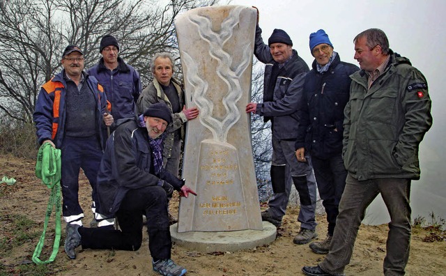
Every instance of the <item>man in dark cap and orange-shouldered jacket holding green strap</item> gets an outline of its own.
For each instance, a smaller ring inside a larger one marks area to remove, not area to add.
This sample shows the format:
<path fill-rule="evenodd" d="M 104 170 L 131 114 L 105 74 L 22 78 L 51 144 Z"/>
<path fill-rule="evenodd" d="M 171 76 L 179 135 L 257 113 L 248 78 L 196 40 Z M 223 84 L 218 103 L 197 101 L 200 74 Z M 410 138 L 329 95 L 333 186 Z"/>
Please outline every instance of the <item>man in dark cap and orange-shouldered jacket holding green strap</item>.
<path fill-rule="evenodd" d="M 79 171 L 82 168 L 98 203 L 96 177 L 105 148 L 104 129 L 114 118 L 107 112 L 107 97 L 98 81 L 84 72 L 84 53 L 68 45 L 62 54 L 63 70 L 42 86 L 33 114 L 39 144 L 61 149 L 61 187 L 66 236 L 82 226 Z"/>

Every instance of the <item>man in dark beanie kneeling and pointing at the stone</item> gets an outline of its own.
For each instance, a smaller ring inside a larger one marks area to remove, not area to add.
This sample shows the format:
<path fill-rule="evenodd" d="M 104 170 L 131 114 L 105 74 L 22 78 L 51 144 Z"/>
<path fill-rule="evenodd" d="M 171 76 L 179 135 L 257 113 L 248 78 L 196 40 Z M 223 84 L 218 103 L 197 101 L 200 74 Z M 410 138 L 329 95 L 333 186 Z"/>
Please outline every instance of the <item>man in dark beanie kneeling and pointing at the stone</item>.
<path fill-rule="evenodd" d="M 162 167 L 164 130 L 171 123 L 167 105 L 158 102 L 144 114 L 125 118 L 107 140 L 98 172 L 99 211 L 116 217 L 121 230 L 113 227 L 76 227 L 66 241 L 66 251 L 75 249 L 139 250 L 143 217 L 146 215 L 153 270 L 161 275 L 184 275 L 186 269 L 171 260 L 171 235 L 167 197 L 174 190 L 181 197 L 195 192 Z"/>

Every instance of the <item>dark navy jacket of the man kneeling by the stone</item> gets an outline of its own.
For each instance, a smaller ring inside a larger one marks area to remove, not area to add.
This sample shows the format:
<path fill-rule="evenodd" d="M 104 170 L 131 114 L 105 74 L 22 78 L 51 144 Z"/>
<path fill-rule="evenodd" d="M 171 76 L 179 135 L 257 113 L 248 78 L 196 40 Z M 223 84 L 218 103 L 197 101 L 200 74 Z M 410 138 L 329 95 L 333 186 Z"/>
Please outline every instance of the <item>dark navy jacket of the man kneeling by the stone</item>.
<path fill-rule="evenodd" d="M 100 212 L 112 217 L 129 190 L 158 185 L 160 179 L 176 190 L 184 185 L 164 168 L 153 174 L 151 146 L 147 129 L 137 124 L 137 118 L 119 120 L 116 130 L 107 139 L 104 157 L 98 171 Z"/>

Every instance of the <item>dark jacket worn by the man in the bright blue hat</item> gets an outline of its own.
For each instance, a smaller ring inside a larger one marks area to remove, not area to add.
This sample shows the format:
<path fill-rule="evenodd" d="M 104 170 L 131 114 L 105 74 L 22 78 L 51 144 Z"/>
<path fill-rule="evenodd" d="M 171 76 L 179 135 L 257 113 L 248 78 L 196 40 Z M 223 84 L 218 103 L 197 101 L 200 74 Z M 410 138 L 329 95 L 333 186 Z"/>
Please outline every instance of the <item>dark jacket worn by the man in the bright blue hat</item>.
<path fill-rule="evenodd" d="M 305 77 L 295 148 L 305 146 L 316 158 L 325 159 L 342 153 L 342 123 L 350 95 L 350 75 L 360 68 L 342 62 L 339 54 L 322 74 L 316 66 L 314 60 L 313 69 Z"/>

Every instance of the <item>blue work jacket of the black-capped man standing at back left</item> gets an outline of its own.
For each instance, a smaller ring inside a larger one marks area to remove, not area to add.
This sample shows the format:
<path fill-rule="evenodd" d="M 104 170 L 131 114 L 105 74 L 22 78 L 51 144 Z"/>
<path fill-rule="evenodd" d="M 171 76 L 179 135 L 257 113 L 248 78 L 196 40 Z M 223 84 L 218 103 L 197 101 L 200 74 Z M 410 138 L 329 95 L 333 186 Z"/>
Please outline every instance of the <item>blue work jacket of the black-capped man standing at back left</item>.
<path fill-rule="evenodd" d="M 118 68 L 113 71 L 105 67 L 104 59 L 101 58 L 99 63 L 87 72 L 95 76 L 104 87 L 107 100 L 112 104 L 114 121 L 120 118 L 133 118 L 136 115 L 136 102 L 141 93 L 141 81 L 137 70 L 118 57 Z"/>

